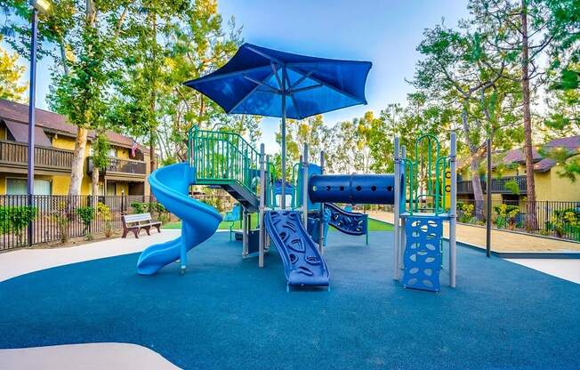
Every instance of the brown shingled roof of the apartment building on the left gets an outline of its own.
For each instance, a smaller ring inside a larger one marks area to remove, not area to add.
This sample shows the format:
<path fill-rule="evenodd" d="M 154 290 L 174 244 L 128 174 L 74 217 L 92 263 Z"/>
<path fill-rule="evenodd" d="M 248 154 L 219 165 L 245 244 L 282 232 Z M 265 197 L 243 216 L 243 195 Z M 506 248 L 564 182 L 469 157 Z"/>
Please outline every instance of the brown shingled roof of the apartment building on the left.
<path fill-rule="evenodd" d="M 0 99 L 0 120 L 8 120 L 23 125 L 28 125 L 28 104 L 21 104 L 14 101 Z M 77 137 L 77 126 L 67 122 L 66 117 L 44 109 L 36 109 L 36 127 L 41 127 L 49 133 L 59 133 L 61 135 Z M 131 148 L 133 139 L 120 133 L 107 132 L 109 141 L 119 147 Z M 94 131 L 89 132 L 89 140 L 94 139 Z M 142 152 L 149 149 L 139 145 Z"/>

